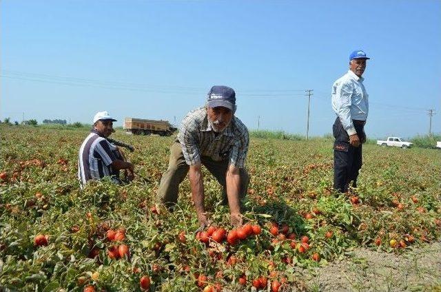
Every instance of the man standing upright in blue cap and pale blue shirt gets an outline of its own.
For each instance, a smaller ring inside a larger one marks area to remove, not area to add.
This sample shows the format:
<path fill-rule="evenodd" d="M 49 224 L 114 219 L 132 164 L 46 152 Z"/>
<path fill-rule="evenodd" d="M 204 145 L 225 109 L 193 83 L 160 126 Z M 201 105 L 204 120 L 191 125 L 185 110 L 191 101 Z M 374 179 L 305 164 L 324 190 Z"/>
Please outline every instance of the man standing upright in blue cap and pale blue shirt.
<path fill-rule="evenodd" d="M 349 56 L 349 71 L 332 86 L 332 108 L 337 114 L 332 127 L 334 138 L 334 189 L 345 192 L 349 183 L 357 187 L 362 165 L 362 143 L 366 141 L 365 123 L 369 98 L 362 78 L 369 58 L 362 50 Z"/>

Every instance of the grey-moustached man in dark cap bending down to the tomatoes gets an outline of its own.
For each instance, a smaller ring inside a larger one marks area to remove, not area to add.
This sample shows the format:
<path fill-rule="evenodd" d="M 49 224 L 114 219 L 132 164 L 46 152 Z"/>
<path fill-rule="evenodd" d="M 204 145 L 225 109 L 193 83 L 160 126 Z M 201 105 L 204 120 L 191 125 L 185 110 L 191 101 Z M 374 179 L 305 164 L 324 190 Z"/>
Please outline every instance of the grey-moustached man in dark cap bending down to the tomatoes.
<path fill-rule="evenodd" d="M 234 116 L 236 93 L 215 85 L 208 92 L 207 105 L 189 112 L 181 123 L 178 138 L 170 149 L 170 163 L 161 178 L 158 199 L 168 207 L 178 200 L 178 187 L 188 173 L 192 199 L 201 227 L 210 224 L 204 206 L 202 165 L 223 186 L 223 204 L 229 205 L 232 225 L 243 223 L 240 198 L 247 193 L 245 169 L 248 129 Z"/>

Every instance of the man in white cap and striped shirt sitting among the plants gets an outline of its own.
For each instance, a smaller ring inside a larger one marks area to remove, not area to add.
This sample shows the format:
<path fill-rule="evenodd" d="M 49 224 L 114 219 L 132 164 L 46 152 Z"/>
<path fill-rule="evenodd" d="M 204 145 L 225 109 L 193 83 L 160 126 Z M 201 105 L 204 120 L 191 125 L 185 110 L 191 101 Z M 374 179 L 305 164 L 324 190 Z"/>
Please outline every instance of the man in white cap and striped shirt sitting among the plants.
<path fill-rule="evenodd" d="M 121 184 L 119 171 L 126 169 L 127 178 L 134 178 L 132 163 L 124 161 L 119 149 L 107 140 L 114 132 L 116 121 L 108 112 L 97 112 L 94 116 L 94 127 L 81 145 L 78 160 L 78 178 L 81 188 L 88 180 L 99 180 L 110 176 L 112 181 Z"/>

